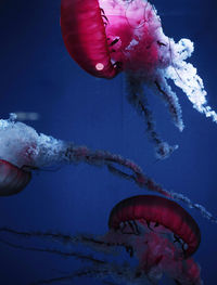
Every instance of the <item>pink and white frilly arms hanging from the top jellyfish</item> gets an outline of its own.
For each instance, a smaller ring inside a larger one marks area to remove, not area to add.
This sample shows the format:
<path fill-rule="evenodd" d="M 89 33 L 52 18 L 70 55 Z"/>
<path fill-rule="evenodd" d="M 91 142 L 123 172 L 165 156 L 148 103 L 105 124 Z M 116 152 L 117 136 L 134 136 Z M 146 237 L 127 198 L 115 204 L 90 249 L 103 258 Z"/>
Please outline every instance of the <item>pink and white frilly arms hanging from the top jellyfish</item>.
<path fill-rule="evenodd" d="M 194 51 L 194 44 L 189 39 L 175 42 L 173 38 L 165 36 L 156 9 L 146 0 L 99 0 L 99 3 L 107 18 L 107 38 L 112 35 L 112 38 L 117 39 L 117 46 L 112 46 L 115 52 L 111 53 L 111 57 L 112 62 L 119 59 L 124 64 L 128 101 L 144 118 L 146 133 L 155 145 L 156 157 L 167 158 L 178 145 L 170 146 L 156 132 L 152 112 L 149 109 L 149 93 L 157 94 L 164 100 L 175 126 L 180 131 L 184 124 L 179 94 L 173 91 L 173 82 L 186 93 L 193 108 L 217 122 L 217 114 L 207 103 L 203 80 L 196 68 L 187 62 Z M 129 27 L 123 24 L 126 22 Z M 126 28 L 126 35 L 129 33 L 128 37 L 131 39 L 129 43 L 126 40 L 126 47 L 122 47 L 122 37 L 119 31 L 116 31 L 116 27 L 120 25 Z M 117 53 L 120 54 L 119 57 Z"/>

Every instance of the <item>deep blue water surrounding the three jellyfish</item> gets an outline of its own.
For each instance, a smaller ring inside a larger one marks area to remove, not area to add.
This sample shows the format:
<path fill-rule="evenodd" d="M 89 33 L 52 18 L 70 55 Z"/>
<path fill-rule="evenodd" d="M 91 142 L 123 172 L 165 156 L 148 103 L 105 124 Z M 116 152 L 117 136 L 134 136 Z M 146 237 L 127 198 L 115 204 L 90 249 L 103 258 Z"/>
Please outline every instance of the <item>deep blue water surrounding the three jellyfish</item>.
<path fill-rule="evenodd" d="M 167 36 L 194 41 L 190 61 L 204 80 L 209 104 L 217 109 L 215 1 L 153 2 Z M 186 124 L 182 133 L 171 124 L 161 99 L 150 98 L 162 137 L 180 146 L 171 157 L 156 163 L 142 119 L 127 103 L 123 75 L 113 80 L 95 79 L 69 59 L 61 37 L 60 1 L 4 0 L 0 14 L 1 118 L 8 118 L 10 112 L 37 112 L 41 119 L 27 124 L 39 132 L 131 158 L 166 189 L 184 193 L 217 215 L 217 126 L 194 111 L 180 90 L 176 89 Z M 0 199 L 0 226 L 103 234 L 111 208 L 139 193 L 132 183 L 87 165 L 40 172 L 21 194 Z M 205 284 L 215 285 L 217 224 L 189 211 L 202 231 L 195 260 Z M 73 259 L 0 244 L 1 285 L 58 276 L 53 269 L 67 271 L 74 265 Z M 100 284 L 92 280 L 76 284 L 90 283 Z"/>

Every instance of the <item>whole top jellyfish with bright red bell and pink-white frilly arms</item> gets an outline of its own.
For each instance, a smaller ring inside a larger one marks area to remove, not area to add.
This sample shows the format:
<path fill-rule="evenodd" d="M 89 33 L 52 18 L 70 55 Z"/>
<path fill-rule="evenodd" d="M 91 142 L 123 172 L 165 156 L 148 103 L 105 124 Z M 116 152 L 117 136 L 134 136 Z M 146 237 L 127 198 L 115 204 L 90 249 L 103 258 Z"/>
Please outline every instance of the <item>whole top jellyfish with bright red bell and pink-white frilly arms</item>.
<path fill-rule="evenodd" d="M 166 37 L 155 8 L 146 0 L 62 0 L 61 29 L 68 53 L 90 75 L 112 79 L 125 72 L 128 101 L 146 121 L 157 158 L 168 157 L 178 145 L 170 146 L 155 131 L 149 93 L 163 99 L 180 131 L 184 127 L 169 79 L 196 111 L 217 121 L 203 80 L 186 62 L 193 42 Z"/>

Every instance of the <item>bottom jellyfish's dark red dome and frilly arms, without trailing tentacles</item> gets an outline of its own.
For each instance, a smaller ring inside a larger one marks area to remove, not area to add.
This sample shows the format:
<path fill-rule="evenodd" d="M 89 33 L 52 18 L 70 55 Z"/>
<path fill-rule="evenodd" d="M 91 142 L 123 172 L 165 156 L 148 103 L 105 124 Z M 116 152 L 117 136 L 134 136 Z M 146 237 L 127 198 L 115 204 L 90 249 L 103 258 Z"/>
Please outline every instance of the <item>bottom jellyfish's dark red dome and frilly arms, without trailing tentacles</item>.
<path fill-rule="evenodd" d="M 122 200 L 111 211 L 104 241 L 131 247 L 139 269 L 157 282 L 168 274 L 176 284 L 202 284 L 191 256 L 201 242 L 194 219 L 177 203 L 153 195 Z"/>

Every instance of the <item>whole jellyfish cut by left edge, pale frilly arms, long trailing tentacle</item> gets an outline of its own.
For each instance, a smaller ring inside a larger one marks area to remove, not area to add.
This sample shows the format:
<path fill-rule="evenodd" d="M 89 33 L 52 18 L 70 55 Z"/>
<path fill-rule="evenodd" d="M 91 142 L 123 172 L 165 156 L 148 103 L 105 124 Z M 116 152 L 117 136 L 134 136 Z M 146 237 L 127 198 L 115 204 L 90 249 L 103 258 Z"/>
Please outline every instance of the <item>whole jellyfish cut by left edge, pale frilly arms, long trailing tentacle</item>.
<path fill-rule="evenodd" d="M 30 182 L 34 170 L 86 163 L 97 167 L 106 166 L 110 172 L 131 180 L 139 187 L 181 200 L 206 219 L 217 222 L 202 205 L 192 203 L 182 194 L 165 190 L 132 160 L 107 151 L 91 151 L 87 146 L 39 134 L 34 128 L 15 119 L 13 113 L 9 119 L 0 119 L 0 196 L 23 191 Z"/>

